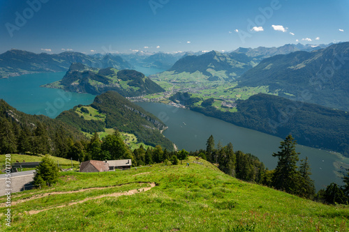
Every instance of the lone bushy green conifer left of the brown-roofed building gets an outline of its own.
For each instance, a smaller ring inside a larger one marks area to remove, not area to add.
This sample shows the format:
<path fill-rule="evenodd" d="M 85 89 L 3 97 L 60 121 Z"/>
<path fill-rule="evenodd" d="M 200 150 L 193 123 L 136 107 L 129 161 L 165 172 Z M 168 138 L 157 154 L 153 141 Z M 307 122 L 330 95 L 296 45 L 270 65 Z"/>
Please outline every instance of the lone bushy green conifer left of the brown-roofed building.
<path fill-rule="evenodd" d="M 59 170 L 57 164 L 54 164 L 54 161 L 48 155 L 45 155 L 36 168 L 34 185 L 40 185 L 41 187 L 45 187 L 47 183 L 52 185 L 57 183 L 58 176 Z"/>

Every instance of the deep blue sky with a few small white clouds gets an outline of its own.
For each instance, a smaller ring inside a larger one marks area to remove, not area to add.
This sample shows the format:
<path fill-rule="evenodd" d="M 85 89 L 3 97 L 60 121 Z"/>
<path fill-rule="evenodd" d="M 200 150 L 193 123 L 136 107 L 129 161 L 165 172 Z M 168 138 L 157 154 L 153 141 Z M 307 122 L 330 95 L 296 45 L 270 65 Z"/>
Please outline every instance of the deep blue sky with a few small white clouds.
<path fill-rule="evenodd" d="M 0 0 L 0 53 L 329 44 L 349 40 L 348 12 L 348 0 Z"/>

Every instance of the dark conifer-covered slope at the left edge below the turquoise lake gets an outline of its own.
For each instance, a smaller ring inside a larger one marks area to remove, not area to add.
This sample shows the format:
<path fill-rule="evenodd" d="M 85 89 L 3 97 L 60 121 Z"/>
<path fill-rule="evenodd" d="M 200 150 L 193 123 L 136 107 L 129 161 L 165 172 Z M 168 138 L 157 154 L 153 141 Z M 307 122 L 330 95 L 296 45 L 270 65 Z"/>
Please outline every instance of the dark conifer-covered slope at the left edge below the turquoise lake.
<path fill-rule="evenodd" d="M 75 127 L 43 115 L 24 114 L 0 99 L 0 154 L 61 156 L 67 142 L 86 141 Z M 64 142 L 65 141 L 65 142 Z"/>

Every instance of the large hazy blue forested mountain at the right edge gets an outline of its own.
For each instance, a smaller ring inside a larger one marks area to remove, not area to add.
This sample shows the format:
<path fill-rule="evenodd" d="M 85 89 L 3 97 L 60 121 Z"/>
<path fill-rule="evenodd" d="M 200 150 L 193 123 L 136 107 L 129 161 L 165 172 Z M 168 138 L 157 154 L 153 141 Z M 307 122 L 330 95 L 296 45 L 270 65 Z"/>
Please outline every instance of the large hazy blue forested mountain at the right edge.
<path fill-rule="evenodd" d="M 285 98 L 349 110 L 349 42 L 264 59 L 239 86 L 269 86 Z"/>

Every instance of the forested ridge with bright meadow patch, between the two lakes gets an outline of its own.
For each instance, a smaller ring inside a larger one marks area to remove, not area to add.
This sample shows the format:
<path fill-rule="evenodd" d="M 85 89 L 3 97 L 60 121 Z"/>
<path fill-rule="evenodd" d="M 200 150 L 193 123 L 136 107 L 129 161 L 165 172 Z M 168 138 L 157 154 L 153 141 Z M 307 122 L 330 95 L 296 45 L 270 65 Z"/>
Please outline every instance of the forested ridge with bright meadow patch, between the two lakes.
<path fill-rule="evenodd" d="M 79 105 L 63 111 L 57 120 L 90 134 L 117 129 L 134 134 L 138 142 L 148 146 L 159 144 L 168 150 L 174 149 L 172 142 L 161 134 L 165 124 L 114 91 L 98 95 L 89 106 Z"/>

